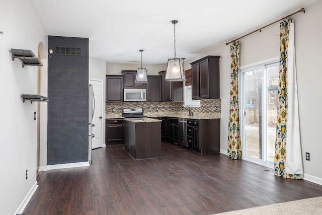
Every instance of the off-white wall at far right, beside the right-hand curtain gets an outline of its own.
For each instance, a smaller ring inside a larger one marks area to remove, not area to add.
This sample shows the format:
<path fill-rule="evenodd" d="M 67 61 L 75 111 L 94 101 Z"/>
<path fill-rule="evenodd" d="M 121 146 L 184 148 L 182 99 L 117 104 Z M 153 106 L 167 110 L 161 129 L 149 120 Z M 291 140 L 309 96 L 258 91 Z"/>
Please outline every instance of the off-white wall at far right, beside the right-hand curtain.
<path fill-rule="evenodd" d="M 322 58 L 322 0 L 305 7 L 305 11 L 305 14 L 294 17 L 300 134 L 304 173 L 322 181 L 322 144 L 319 137 L 322 119 L 322 100 L 319 98 L 322 89 L 319 65 Z M 310 153 L 310 161 L 305 161 L 305 152 Z"/>

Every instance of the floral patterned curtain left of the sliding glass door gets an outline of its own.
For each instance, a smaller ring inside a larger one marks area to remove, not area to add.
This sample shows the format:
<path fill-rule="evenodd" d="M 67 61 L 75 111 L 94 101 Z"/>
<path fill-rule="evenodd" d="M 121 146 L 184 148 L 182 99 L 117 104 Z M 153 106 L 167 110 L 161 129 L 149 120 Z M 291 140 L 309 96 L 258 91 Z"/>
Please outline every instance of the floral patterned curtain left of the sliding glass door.
<path fill-rule="evenodd" d="M 239 41 L 230 45 L 230 104 L 228 122 L 228 156 L 241 158 L 241 141 L 238 108 Z"/>

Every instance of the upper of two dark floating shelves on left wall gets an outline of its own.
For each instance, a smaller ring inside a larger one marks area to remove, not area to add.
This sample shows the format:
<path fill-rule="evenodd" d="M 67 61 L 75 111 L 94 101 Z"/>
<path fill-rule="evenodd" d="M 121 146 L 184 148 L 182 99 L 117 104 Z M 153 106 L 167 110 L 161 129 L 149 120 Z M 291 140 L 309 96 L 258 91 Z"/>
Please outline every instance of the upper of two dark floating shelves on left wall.
<path fill-rule="evenodd" d="M 12 48 L 10 51 L 12 53 L 12 60 L 15 60 L 15 58 L 21 59 L 22 67 L 25 65 L 43 66 L 42 62 L 31 50 Z"/>

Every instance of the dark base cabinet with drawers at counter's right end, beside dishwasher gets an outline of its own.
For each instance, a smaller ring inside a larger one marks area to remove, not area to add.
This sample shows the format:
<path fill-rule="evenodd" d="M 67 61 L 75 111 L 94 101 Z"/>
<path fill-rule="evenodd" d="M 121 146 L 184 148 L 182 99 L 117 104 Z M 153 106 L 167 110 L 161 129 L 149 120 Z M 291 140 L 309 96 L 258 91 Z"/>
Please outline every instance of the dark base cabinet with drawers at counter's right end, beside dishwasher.
<path fill-rule="evenodd" d="M 220 119 L 187 119 L 188 147 L 200 154 L 220 150 Z"/>

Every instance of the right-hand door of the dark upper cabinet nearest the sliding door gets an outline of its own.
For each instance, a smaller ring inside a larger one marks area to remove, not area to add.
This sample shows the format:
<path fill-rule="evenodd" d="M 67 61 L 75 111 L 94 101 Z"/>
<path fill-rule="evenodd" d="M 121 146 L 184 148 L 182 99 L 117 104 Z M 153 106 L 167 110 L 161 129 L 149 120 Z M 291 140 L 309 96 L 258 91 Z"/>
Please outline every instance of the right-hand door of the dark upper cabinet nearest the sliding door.
<path fill-rule="evenodd" d="M 209 98 L 209 63 L 208 59 L 199 62 L 199 98 Z"/>

